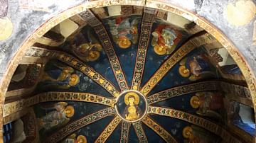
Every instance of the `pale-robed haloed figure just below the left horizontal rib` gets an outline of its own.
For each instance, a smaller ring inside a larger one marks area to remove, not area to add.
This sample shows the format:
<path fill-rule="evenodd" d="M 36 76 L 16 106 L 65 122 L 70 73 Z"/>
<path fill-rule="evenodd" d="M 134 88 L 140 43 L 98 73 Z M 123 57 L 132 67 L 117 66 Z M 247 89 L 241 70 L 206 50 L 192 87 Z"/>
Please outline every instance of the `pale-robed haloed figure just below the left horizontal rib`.
<path fill-rule="evenodd" d="M 52 127 L 67 123 L 70 120 L 69 118 L 72 118 L 75 113 L 73 106 L 65 102 L 55 103 L 53 108 L 47 108 L 47 110 L 50 109 L 55 110 L 38 119 L 39 125 L 45 130 L 50 130 Z"/>

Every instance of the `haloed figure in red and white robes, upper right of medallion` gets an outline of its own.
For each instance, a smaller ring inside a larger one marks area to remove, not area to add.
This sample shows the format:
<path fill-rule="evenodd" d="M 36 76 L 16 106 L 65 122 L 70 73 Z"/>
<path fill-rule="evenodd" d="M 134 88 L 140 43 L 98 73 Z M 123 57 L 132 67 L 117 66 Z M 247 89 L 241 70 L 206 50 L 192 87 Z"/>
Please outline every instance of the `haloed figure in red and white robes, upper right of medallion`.
<path fill-rule="evenodd" d="M 152 33 L 151 45 L 157 55 L 170 55 L 174 52 L 176 45 L 181 40 L 181 33 L 169 25 L 158 25 Z"/>

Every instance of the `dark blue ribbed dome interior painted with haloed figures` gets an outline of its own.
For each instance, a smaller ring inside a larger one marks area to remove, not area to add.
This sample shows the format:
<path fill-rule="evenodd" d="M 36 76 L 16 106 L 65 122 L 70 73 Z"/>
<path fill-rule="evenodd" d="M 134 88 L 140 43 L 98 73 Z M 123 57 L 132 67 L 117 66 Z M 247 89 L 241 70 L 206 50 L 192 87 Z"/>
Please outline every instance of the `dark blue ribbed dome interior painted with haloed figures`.
<path fill-rule="evenodd" d="M 220 72 L 208 48 L 215 38 L 159 13 L 91 9 L 58 50 L 36 49 L 52 57 L 35 90 L 41 142 L 223 142 L 230 86 L 222 71 L 240 70 Z"/>

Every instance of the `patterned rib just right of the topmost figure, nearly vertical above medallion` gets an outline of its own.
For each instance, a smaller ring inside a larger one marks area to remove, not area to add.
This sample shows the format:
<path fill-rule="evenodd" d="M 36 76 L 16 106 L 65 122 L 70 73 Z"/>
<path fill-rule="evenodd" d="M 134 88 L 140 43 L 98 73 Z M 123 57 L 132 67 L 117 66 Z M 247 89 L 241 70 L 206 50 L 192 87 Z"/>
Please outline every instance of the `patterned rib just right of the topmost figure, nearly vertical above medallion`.
<path fill-rule="evenodd" d="M 136 62 L 134 67 L 134 74 L 132 77 L 131 89 L 139 90 L 142 82 L 144 66 L 146 61 L 146 52 L 149 46 L 149 39 L 151 35 L 151 28 L 156 17 L 157 11 L 152 8 L 144 8 L 142 17 L 142 27 L 139 36 L 139 45 L 137 50 Z"/>

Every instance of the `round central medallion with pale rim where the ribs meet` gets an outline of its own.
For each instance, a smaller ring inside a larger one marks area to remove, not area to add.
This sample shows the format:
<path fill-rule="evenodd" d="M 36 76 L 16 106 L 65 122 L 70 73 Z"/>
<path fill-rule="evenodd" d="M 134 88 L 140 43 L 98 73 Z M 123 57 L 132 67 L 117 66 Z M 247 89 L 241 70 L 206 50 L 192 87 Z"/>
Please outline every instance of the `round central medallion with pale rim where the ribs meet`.
<path fill-rule="evenodd" d="M 115 109 L 122 120 L 136 122 L 146 115 L 146 98 L 139 91 L 124 91 L 117 97 Z"/>

